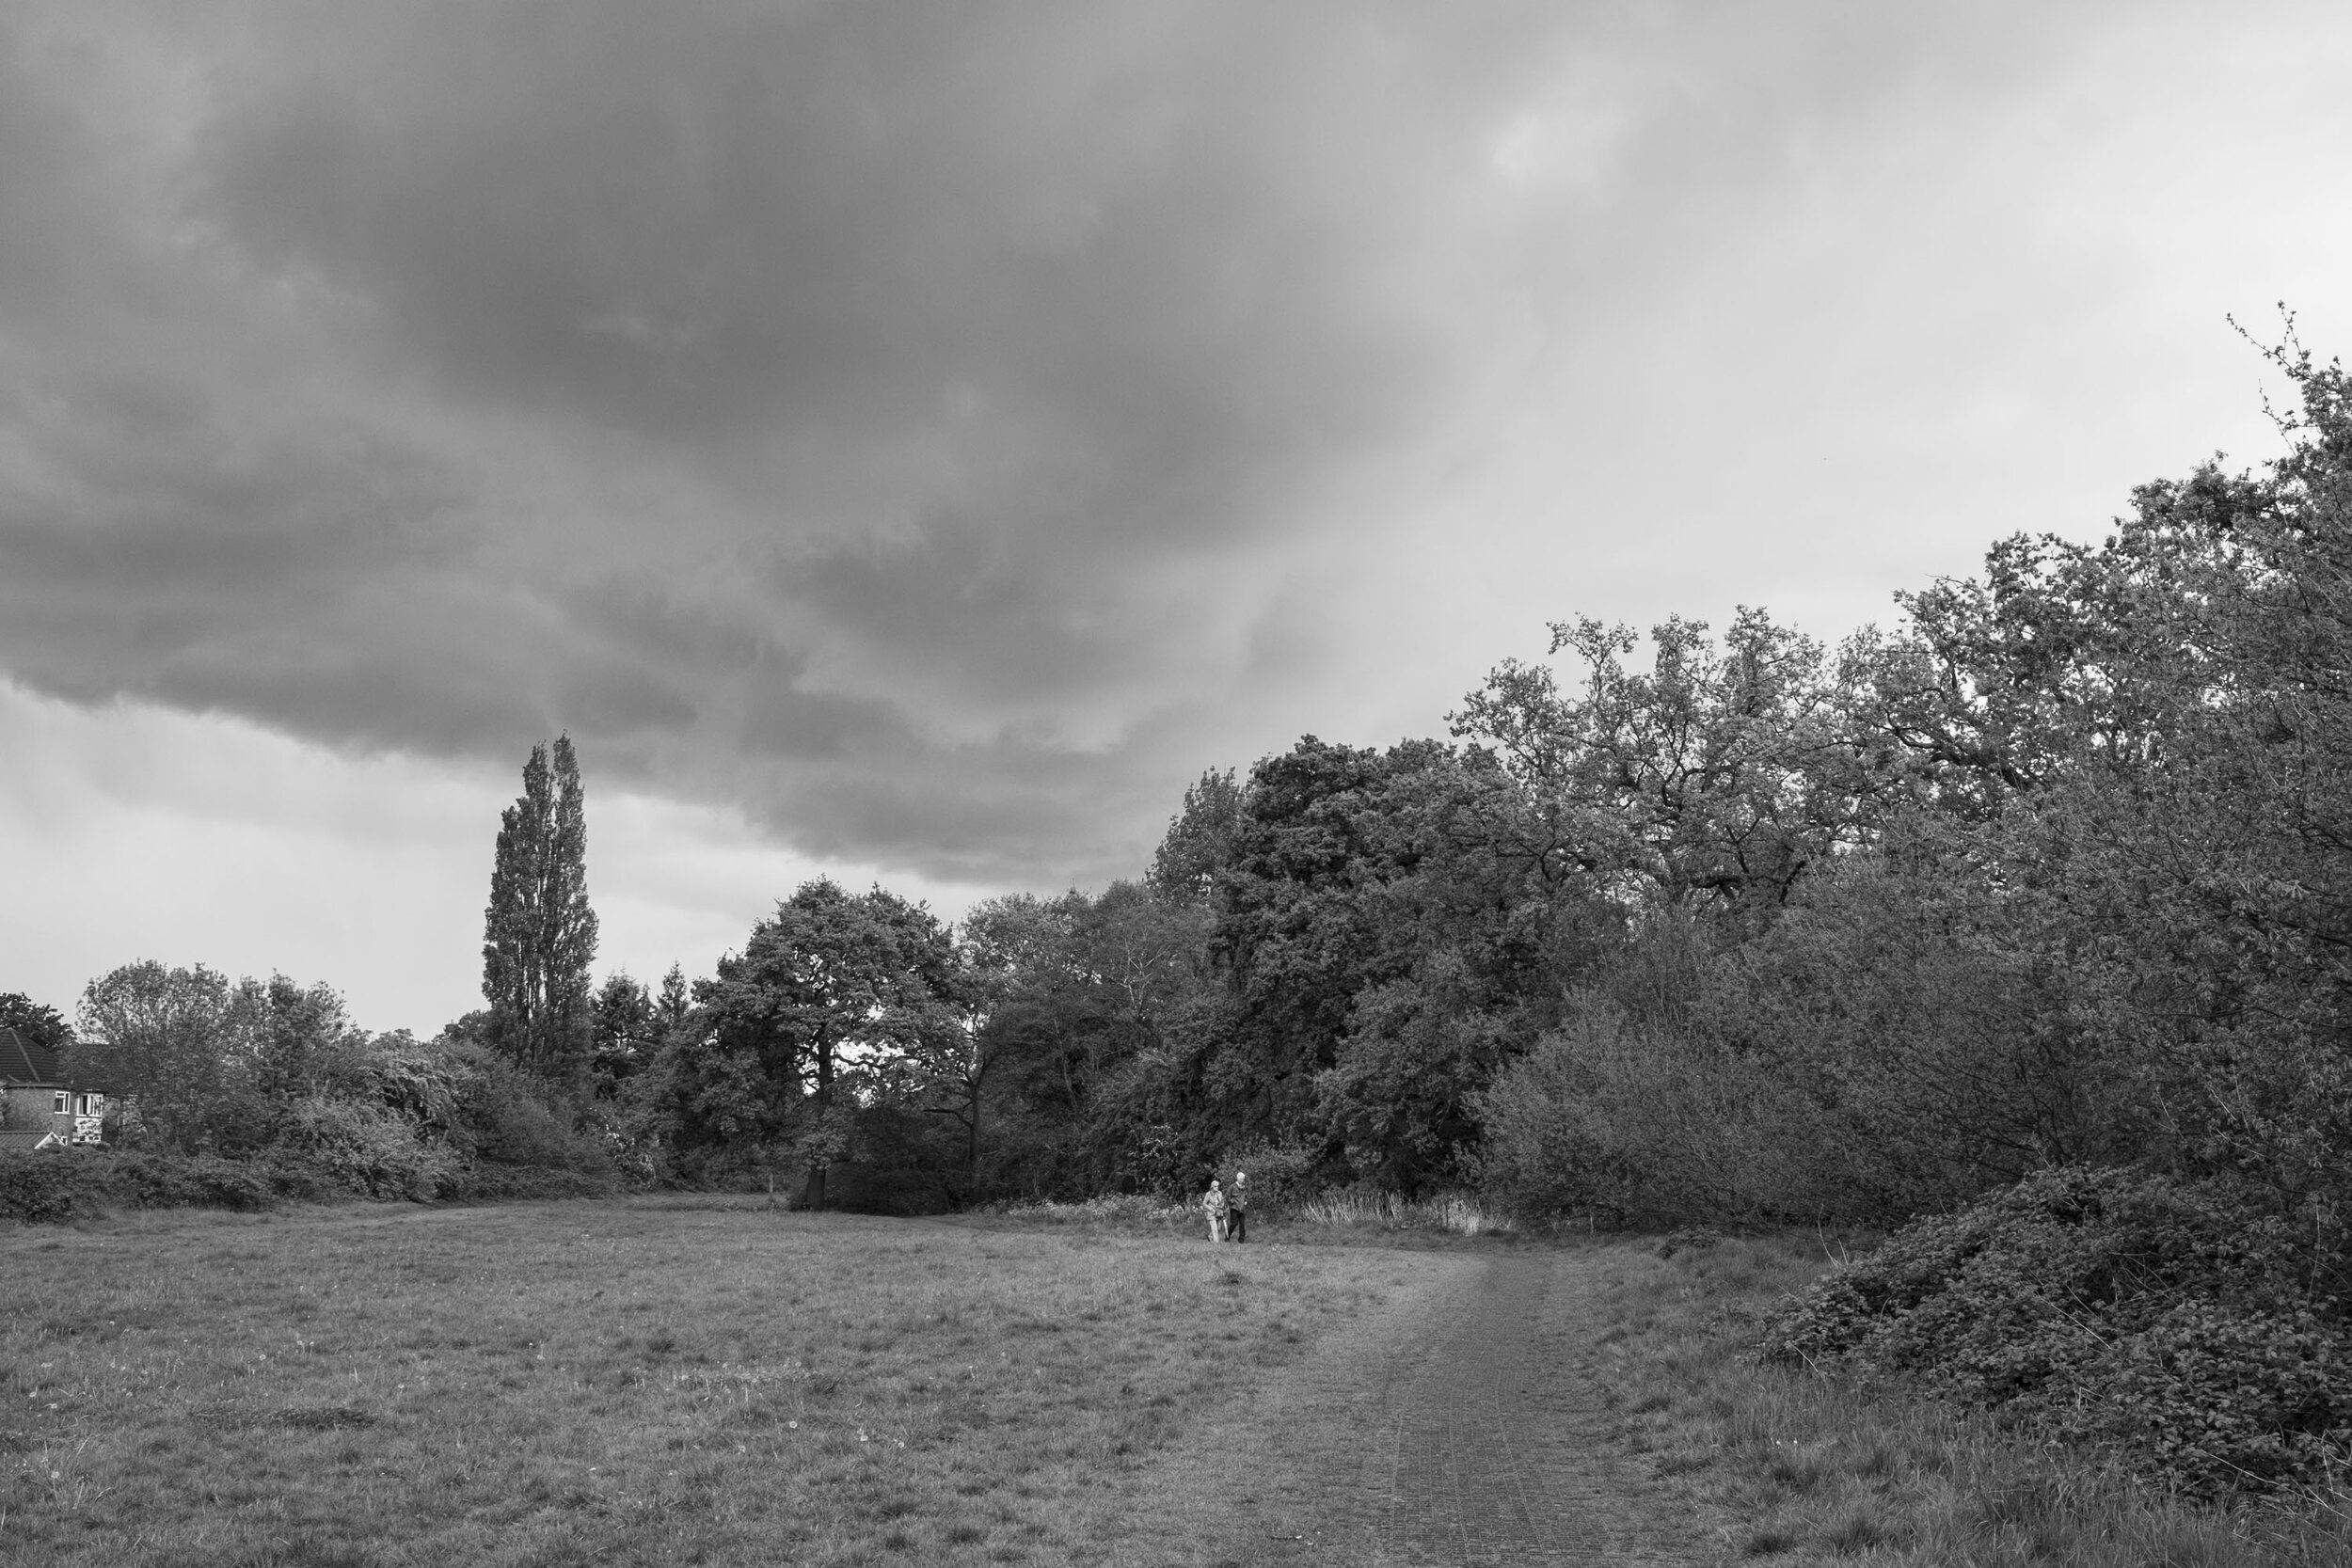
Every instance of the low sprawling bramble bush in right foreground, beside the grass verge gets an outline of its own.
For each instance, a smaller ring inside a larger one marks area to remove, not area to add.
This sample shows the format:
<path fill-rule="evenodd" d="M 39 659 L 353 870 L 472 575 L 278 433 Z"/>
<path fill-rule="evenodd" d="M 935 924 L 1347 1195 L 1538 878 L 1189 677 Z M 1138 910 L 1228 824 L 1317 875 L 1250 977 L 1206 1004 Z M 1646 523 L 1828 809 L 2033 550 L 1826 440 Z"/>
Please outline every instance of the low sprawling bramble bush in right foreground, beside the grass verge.
<path fill-rule="evenodd" d="M 2352 1455 L 2333 1251 L 2223 1185 L 2042 1171 L 1832 1269 L 1762 1352 L 2100 1443 L 2185 1493 L 2267 1490 Z"/>

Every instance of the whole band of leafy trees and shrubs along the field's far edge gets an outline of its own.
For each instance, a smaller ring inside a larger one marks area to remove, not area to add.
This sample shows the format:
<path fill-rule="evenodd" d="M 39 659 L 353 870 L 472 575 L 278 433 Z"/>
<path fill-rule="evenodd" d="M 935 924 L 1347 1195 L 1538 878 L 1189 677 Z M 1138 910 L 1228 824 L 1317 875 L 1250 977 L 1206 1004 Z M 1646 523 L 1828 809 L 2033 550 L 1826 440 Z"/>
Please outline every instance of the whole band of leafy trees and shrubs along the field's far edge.
<path fill-rule="evenodd" d="M 125 966 L 127 1145 L 430 1197 L 468 1164 L 807 1204 L 1479 1190 L 1597 1225 L 1896 1222 L 2067 1164 L 2338 1225 L 2352 1119 L 2352 383 L 2288 451 L 2009 538 L 1828 649 L 1564 621 L 1446 738 L 1211 771 L 1131 882 L 955 926 L 811 882 L 590 985 L 579 762 L 506 813 L 485 1009 Z M 1639 658 L 1637 658 L 1639 654 Z M 362 1171 L 365 1175 L 353 1175 Z M 341 1180 L 341 1178 L 339 1178 Z"/>

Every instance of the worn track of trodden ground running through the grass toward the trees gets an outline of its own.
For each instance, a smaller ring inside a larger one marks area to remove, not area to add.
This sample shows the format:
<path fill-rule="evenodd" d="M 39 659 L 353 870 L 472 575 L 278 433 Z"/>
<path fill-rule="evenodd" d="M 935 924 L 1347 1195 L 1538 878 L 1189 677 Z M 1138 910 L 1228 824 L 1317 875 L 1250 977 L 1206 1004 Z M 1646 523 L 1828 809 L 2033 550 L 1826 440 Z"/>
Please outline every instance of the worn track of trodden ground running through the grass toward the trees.
<path fill-rule="evenodd" d="M 1120 1563 L 1668 1568 L 1710 1554 L 1625 1453 L 1592 1378 L 1590 1258 L 1442 1260 L 1348 1345 L 1284 1373 L 1181 1458 L 1192 1535 Z M 1247 1455 L 1235 1465 L 1237 1455 Z M 1242 1472 L 1247 1479 L 1235 1483 Z M 1211 1544 L 1214 1542 L 1214 1544 Z"/>

